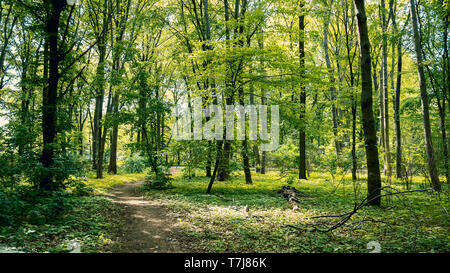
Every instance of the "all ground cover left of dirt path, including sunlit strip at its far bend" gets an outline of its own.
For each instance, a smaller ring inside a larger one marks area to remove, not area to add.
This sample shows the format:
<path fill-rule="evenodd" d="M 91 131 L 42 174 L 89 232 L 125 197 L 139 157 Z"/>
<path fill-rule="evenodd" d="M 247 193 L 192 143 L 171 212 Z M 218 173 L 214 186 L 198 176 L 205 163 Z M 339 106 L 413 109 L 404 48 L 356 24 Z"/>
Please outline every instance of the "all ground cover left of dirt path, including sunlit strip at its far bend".
<path fill-rule="evenodd" d="M 67 243 L 76 240 L 81 243 L 82 252 L 111 252 L 119 247 L 115 240 L 123 223 L 120 208 L 103 193 L 144 177 L 144 174 L 105 174 L 105 178 L 95 179 L 90 174 L 84 183 L 94 191 L 86 196 L 66 192 L 36 199 L 9 194 L 6 201 L 17 206 L 17 213 L 9 225 L 0 223 L 0 245 L 24 252 L 66 252 Z"/>

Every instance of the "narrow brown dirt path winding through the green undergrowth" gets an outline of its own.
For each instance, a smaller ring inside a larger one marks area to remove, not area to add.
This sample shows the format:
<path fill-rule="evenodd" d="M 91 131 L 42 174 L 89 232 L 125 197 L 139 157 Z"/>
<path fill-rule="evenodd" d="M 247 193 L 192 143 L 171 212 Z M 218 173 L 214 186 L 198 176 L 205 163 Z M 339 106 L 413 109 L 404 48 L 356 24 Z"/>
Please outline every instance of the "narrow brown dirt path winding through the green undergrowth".
<path fill-rule="evenodd" d="M 121 252 L 173 253 L 186 252 L 174 239 L 177 219 L 166 207 L 137 193 L 142 181 L 115 187 L 110 192 L 113 202 L 123 208 L 124 226 L 121 230 Z"/>

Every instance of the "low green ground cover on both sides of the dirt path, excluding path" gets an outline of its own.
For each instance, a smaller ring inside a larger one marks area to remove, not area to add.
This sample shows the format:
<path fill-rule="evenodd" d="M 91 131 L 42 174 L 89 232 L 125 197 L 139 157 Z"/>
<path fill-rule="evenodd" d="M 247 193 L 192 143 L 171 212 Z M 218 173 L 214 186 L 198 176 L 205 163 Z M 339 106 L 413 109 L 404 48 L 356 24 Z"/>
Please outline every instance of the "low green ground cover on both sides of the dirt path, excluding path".
<path fill-rule="evenodd" d="M 404 200 L 394 196 L 384 198 L 381 208 L 364 208 L 347 225 L 320 233 L 298 231 L 287 225 L 319 222 L 332 225 L 336 219 L 302 218 L 350 211 L 355 201 L 365 197 L 364 180 L 358 181 L 355 194 L 348 176 L 333 180 L 327 173 L 312 173 L 309 180 L 296 180 L 292 184 L 310 196 L 301 198 L 298 210 L 293 211 L 292 205 L 276 193 L 286 185 L 287 177 L 280 179 L 275 172 L 252 176 L 252 185 L 245 184 L 242 174 L 216 182 L 212 194 L 207 195 L 208 178 L 188 180 L 176 174 L 174 188 L 150 190 L 146 194 L 163 201 L 179 215 L 180 237 L 190 243 L 193 251 L 368 252 L 370 241 L 379 242 L 383 252 L 450 251 L 450 219 L 445 212 L 450 204 L 448 190 L 440 198 L 425 192 L 409 193 Z M 64 210 L 57 216 L 45 217 L 45 213 L 55 209 L 54 206 L 58 208 L 58 202 L 52 206 L 49 202 L 59 199 L 28 204 L 20 222 L 0 227 L 0 244 L 27 252 L 64 252 L 69 240 L 78 240 L 83 252 L 114 251 L 119 247 L 115 240 L 122 224 L 120 209 L 102 194 L 113 186 L 144 177 L 145 174 L 105 174 L 104 179 L 95 179 L 94 174 L 89 174 L 85 183 L 94 189 L 94 194 L 65 196 Z M 390 185 L 404 189 L 399 181 Z M 412 189 L 423 187 L 423 179 L 413 180 Z M 243 211 L 246 205 L 250 216 L 260 217 L 247 218 Z M 356 225 L 364 216 L 377 222 Z"/>

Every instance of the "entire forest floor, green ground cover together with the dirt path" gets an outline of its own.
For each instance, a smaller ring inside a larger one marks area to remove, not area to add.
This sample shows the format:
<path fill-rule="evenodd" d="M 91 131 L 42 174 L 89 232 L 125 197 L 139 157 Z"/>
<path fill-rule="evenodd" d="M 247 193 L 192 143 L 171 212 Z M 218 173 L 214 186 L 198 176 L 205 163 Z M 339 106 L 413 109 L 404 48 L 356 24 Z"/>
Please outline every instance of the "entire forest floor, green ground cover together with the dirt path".
<path fill-rule="evenodd" d="M 74 241 L 87 253 L 367 253 L 374 242 L 383 253 L 450 252 L 448 189 L 385 197 L 381 207 L 364 207 L 336 230 L 313 232 L 340 220 L 314 217 L 351 211 L 365 198 L 364 178 L 352 182 L 349 175 L 334 179 L 323 172 L 298 180 L 290 179 L 295 173 L 252 172 L 248 185 L 235 172 L 206 194 L 209 178 L 203 170 L 194 173 L 189 179 L 172 168 L 172 185 L 163 190 L 142 187 L 145 173 L 120 173 L 79 178 L 92 189 L 81 195 L 36 199 L 21 194 L 29 188 L 0 191 L 0 252 L 69 252 Z M 401 181 L 383 183 L 405 190 Z M 278 193 L 286 185 L 303 193 L 296 206 Z M 411 190 L 427 187 L 415 177 Z"/>

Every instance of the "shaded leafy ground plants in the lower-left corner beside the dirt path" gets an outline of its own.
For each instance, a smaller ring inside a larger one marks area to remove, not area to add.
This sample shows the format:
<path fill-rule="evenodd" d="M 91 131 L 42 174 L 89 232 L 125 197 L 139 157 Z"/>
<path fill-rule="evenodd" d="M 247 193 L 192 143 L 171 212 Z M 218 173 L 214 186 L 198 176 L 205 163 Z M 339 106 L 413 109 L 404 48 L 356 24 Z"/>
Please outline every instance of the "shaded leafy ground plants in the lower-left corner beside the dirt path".
<path fill-rule="evenodd" d="M 24 252 L 67 252 L 67 241 L 77 240 L 82 252 L 109 252 L 115 247 L 119 209 L 104 197 L 52 197 L 41 200 L 27 221 L 0 225 L 0 243 Z M 49 204 L 45 204 L 49 202 Z M 65 210 L 60 205 L 64 202 Z M 49 216 L 58 210 L 58 217 Z"/>

